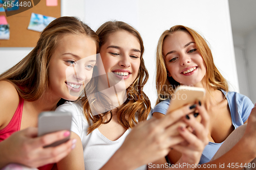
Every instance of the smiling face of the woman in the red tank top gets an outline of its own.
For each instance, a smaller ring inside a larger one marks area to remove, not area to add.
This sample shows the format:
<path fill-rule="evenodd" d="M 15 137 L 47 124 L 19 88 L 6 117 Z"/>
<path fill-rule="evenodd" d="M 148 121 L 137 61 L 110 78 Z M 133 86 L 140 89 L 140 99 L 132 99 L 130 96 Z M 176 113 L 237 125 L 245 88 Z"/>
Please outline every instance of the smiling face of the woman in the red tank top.
<path fill-rule="evenodd" d="M 96 44 L 86 35 L 66 34 L 51 56 L 48 74 L 50 92 L 55 98 L 74 101 L 92 78 Z"/>

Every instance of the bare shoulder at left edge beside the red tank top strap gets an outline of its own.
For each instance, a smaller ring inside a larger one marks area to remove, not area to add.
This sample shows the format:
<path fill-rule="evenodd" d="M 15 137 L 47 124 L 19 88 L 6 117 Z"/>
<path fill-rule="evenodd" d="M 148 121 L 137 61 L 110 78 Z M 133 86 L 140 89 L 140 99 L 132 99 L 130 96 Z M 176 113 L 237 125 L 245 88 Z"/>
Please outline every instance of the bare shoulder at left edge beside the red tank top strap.
<path fill-rule="evenodd" d="M 19 95 L 16 88 L 8 81 L 0 81 L 0 127 L 9 122 L 18 104 Z"/>

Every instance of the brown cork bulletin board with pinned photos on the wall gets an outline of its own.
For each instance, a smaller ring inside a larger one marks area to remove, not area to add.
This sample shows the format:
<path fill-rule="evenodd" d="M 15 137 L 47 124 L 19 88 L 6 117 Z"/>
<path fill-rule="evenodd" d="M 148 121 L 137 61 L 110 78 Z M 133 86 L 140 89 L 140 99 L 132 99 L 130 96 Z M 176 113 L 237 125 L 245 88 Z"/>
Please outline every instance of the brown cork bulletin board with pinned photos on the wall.
<path fill-rule="evenodd" d="M 22 13 L 6 17 L 10 26 L 10 39 L 0 40 L 0 47 L 34 47 L 36 45 L 40 32 L 27 29 L 32 12 L 55 18 L 60 17 L 60 0 L 58 0 L 57 6 L 47 6 L 46 0 L 41 0 L 36 5 L 32 3 L 32 5 L 33 8 Z M 6 13 L 0 12 L 0 15 L 6 16 Z"/>

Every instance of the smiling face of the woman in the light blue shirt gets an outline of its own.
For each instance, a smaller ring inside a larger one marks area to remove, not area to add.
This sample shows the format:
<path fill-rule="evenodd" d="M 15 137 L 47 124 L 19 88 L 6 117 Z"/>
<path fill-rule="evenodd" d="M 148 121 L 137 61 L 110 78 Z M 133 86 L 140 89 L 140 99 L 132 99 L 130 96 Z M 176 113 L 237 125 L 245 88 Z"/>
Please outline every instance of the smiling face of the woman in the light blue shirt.
<path fill-rule="evenodd" d="M 183 85 L 202 86 L 206 65 L 189 33 L 176 31 L 168 35 L 163 41 L 163 55 L 174 80 Z"/>

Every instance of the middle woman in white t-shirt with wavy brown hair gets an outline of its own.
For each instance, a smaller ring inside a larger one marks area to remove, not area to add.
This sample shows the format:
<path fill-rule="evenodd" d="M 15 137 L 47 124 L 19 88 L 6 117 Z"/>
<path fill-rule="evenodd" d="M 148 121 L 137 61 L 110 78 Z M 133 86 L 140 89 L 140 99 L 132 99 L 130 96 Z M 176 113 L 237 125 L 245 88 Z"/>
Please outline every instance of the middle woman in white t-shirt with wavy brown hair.
<path fill-rule="evenodd" d="M 57 163 L 58 169 L 147 169 L 146 164 L 164 157 L 171 146 L 184 140 L 194 144 L 179 163 L 197 163 L 207 141 L 206 112 L 198 106 L 204 125 L 193 120 L 179 122 L 195 110 L 189 106 L 163 119 L 147 120 L 151 103 L 143 92 L 148 73 L 140 34 L 121 21 L 105 22 L 96 33 L 100 39 L 97 75 L 77 103 L 67 102 L 56 109 L 72 112 L 71 136 L 77 139 L 76 148 Z M 200 135 L 188 132 L 186 124 L 195 124 Z M 177 131 L 180 135 L 175 135 Z"/>

